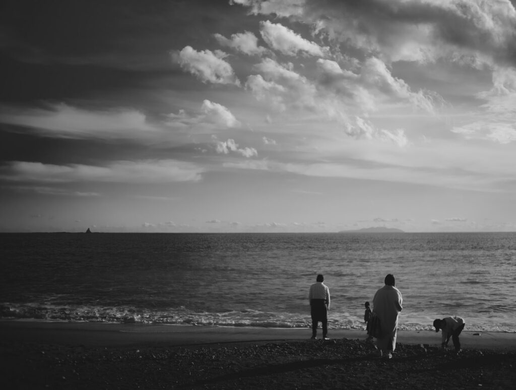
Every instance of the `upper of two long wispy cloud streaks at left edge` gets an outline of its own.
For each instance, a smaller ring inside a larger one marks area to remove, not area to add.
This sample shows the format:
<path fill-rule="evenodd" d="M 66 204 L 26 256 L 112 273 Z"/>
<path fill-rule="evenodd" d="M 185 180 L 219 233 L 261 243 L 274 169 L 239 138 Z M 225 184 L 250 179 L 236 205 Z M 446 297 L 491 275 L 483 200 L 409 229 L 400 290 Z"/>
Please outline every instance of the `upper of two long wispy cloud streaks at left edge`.
<path fill-rule="evenodd" d="M 2 111 L 0 122 L 30 127 L 47 136 L 143 140 L 162 134 L 144 114 L 123 108 L 88 111 L 61 103 L 47 104 L 46 109 L 2 107 Z"/>

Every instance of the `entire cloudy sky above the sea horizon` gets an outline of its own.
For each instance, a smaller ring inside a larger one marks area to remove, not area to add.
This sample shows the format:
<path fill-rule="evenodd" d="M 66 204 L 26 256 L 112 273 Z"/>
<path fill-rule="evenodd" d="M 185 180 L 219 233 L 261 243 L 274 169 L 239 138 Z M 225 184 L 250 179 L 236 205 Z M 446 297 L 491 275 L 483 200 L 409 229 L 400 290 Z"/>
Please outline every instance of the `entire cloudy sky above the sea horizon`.
<path fill-rule="evenodd" d="M 516 231 L 515 5 L 6 0 L 0 231 Z"/>

